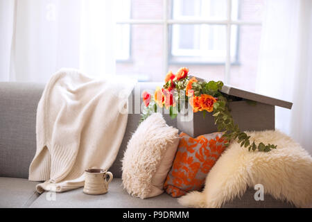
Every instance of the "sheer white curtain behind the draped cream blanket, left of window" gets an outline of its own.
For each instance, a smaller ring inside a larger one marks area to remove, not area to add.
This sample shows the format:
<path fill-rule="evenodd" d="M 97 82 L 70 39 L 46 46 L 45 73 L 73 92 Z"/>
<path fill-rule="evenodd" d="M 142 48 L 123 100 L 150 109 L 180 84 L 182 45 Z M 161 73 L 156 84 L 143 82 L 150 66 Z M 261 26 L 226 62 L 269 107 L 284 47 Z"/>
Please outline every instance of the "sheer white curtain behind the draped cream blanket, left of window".
<path fill-rule="evenodd" d="M 46 82 L 61 67 L 114 74 L 112 2 L 0 0 L 0 81 Z"/>

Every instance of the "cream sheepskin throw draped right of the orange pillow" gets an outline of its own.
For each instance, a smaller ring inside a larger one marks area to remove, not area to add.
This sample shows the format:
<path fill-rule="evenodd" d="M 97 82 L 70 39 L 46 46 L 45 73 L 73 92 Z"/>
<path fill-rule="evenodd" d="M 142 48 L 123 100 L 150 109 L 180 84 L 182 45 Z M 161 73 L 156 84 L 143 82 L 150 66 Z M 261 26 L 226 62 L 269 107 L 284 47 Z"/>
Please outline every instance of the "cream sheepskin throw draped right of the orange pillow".
<path fill-rule="evenodd" d="M 247 187 L 261 184 L 264 193 L 276 199 L 287 200 L 296 207 L 308 207 L 312 202 L 311 155 L 279 131 L 248 135 L 250 141 L 275 144 L 277 149 L 268 153 L 249 152 L 248 148 L 232 142 L 209 172 L 205 189 L 183 196 L 179 203 L 189 207 L 221 207 L 236 196 L 241 197 Z"/>

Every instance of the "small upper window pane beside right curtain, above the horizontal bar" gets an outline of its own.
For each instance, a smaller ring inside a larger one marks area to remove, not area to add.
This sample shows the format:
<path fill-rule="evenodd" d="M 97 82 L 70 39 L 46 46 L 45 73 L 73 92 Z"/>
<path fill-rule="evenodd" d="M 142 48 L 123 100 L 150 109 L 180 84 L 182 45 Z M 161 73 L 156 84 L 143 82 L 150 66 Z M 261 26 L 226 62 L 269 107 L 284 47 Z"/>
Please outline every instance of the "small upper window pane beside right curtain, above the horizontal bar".
<path fill-rule="evenodd" d="M 239 7 L 239 13 L 235 8 Z M 262 21 L 264 0 L 232 0 L 232 19 Z"/>

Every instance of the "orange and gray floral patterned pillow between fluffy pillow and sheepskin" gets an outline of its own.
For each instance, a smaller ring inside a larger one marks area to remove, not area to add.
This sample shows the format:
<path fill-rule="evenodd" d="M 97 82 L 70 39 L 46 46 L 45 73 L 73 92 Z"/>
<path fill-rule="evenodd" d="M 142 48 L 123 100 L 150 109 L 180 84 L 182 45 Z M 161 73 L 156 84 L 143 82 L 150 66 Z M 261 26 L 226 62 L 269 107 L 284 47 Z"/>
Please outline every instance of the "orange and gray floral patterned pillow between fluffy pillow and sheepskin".
<path fill-rule="evenodd" d="M 223 133 L 210 133 L 192 138 L 180 134 L 180 144 L 169 171 L 164 189 L 173 197 L 200 190 L 210 169 L 225 150 Z"/>

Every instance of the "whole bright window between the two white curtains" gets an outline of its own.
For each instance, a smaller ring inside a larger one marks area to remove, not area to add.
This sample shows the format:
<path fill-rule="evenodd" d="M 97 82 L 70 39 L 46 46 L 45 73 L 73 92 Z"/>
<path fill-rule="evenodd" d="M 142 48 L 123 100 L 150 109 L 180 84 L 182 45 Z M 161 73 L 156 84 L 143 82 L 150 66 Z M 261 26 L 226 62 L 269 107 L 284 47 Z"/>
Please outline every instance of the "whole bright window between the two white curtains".
<path fill-rule="evenodd" d="M 254 89 L 263 0 L 117 0 L 117 74 L 163 81 L 190 68 Z"/>

